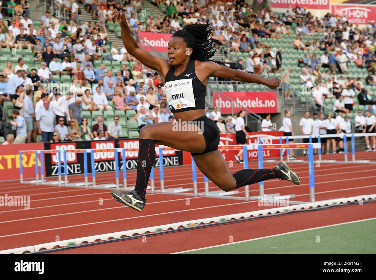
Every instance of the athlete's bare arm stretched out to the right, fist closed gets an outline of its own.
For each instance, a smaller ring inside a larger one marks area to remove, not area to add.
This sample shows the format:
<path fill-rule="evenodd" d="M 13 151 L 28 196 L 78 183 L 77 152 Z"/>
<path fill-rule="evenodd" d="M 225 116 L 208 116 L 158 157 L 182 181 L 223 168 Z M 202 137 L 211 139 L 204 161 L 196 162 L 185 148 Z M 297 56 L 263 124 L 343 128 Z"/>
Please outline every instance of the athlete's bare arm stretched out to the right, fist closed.
<path fill-rule="evenodd" d="M 224 65 L 219 65 L 212 61 L 205 62 L 205 68 L 209 70 L 209 76 L 212 77 L 220 77 L 245 83 L 259 83 L 272 89 L 277 88 L 280 83 L 280 79 L 277 79 L 275 77 L 265 79 L 251 73 L 242 72 L 239 70 L 231 69 Z"/>

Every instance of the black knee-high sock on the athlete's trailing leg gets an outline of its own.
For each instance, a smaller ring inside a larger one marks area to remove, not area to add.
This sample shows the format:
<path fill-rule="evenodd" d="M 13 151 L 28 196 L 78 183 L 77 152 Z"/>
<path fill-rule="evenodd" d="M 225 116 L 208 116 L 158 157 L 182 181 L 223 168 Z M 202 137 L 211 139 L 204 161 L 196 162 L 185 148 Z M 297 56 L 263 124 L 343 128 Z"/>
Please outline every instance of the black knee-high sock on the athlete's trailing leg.
<path fill-rule="evenodd" d="M 247 185 L 252 185 L 261 181 L 270 179 L 280 179 L 282 173 L 276 168 L 273 169 L 243 169 L 232 174 L 235 178 L 237 187 L 240 188 Z"/>

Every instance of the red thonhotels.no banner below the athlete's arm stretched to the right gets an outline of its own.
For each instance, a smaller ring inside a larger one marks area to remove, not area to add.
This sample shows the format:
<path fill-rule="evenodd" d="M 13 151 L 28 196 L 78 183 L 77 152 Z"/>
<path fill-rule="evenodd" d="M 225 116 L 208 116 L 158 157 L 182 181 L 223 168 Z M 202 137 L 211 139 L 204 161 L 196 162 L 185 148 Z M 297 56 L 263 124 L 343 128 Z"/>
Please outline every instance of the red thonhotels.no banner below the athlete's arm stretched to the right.
<path fill-rule="evenodd" d="M 223 92 L 236 103 L 241 104 L 256 114 L 277 113 L 277 92 Z M 221 96 L 221 104 L 219 104 L 218 92 L 213 92 L 214 104 L 221 108 L 221 114 L 232 114 L 239 112 L 241 107 L 233 104 L 226 97 Z"/>

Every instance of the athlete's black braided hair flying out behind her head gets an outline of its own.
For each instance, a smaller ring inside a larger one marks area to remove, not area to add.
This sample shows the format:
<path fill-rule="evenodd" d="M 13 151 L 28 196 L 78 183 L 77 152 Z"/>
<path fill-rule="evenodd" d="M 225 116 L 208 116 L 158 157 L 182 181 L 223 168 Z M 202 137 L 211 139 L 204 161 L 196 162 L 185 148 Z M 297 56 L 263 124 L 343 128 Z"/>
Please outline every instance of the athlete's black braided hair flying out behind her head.
<path fill-rule="evenodd" d="M 183 29 L 177 30 L 173 37 L 181 37 L 188 48 L 193 48 L 191 59 L 198 61 L 212 61 L 216 51 L 211 37 L 213 36 L 212 23 L 209 20 L 206 24 L 188 24 Z"/>

